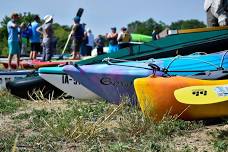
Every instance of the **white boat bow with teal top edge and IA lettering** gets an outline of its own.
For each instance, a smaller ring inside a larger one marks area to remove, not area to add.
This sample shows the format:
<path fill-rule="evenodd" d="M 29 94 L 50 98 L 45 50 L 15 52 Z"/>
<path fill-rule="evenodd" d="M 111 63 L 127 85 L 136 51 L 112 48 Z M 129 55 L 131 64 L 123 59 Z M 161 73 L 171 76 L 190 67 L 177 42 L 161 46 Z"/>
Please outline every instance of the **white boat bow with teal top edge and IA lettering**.
<path fill-rule="evenodd" d="M 95 93 L 62 71 L 62 67 L 40 68 L 39 76 L 75 99 L 97 99 Z"/>

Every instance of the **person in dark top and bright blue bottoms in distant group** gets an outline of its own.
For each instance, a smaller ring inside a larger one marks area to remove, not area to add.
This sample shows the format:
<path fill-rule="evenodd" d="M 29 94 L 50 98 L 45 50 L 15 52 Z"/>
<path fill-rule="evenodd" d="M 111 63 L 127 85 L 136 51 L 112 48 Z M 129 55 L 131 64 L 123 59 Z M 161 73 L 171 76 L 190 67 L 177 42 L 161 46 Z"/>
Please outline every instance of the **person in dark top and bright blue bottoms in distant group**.
<path fill-rule="evenodd" d="M 113 53 L 113 52 L 116 52 L 118 51 L 118 41 L 117 41 L 117 38 L 118 38 L 118 33 L 116 32 L 116 27 L 112 27 L 111 28 L 111 33 L 109 33 L 107 35 L 107 39 L 109 41 L 109 51 L 108 53 Z"/>

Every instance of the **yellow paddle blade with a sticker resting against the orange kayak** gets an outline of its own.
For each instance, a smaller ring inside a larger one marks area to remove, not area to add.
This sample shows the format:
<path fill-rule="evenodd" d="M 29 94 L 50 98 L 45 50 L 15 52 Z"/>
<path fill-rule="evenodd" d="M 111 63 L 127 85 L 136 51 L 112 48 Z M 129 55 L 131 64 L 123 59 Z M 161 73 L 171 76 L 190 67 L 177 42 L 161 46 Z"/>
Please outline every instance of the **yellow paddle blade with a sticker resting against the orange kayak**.
<path fill-rule="evenodd" d="M 191 86 L 177 89 L 174 92 L 177 101 L 190 104 L 214 104 L 228 101 L 228 84 Z"/>

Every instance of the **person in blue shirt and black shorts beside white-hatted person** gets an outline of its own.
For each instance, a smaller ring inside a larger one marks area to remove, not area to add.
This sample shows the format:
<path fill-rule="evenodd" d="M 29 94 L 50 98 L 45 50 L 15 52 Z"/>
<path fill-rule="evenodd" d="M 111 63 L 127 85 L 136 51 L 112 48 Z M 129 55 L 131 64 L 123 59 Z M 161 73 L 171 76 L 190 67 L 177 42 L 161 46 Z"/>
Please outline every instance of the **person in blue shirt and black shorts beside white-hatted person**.
<path fill-rule="evenodd" d="M 40 42 L 40 33 L 37 32 L 37 28 L 40 26 L 40 17 L 38 15 L 34 16 L 34 21 L 31 23 L 31 52 L 30 59 L 34 60 L 37 57 L 37 54 L 41 52 L 41 42 Z"/>

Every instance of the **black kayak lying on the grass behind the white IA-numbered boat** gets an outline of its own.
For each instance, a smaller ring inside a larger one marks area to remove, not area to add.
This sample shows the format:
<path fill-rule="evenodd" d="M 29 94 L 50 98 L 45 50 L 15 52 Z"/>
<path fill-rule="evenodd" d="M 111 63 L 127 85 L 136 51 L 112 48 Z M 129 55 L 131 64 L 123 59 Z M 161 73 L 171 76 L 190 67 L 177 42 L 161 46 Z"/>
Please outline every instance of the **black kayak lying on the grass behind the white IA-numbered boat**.
<path fill-rule="evenodd" d="M 23 99 L 31 99 L 31 97 L 38 99 L 36 94 L 41 97 L 39 95 L 40 91 L 42 92 L 42 96 L 47 99 L 58 98 L 64 94 L 61 90 L 39 76 L 9 81 L 6 83 L 6 88 L 11 94 Z"/>

